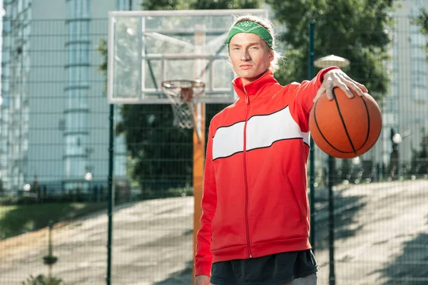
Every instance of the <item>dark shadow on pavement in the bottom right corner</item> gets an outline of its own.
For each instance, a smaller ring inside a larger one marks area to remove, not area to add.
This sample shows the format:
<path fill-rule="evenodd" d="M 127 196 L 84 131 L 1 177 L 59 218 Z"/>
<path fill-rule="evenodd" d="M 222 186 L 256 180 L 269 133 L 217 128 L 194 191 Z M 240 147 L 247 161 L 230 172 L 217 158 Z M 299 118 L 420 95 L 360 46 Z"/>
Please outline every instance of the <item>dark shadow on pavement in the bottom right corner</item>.
<path fill-rule="evenodd" d="M 427 217 L 428 218 L 428 217 Z M 402 254 L 394 257 L 381 272 L 384 285 L 428 284 L 428 234 L 421 233 L 403 244 Z"/>

